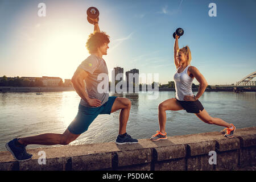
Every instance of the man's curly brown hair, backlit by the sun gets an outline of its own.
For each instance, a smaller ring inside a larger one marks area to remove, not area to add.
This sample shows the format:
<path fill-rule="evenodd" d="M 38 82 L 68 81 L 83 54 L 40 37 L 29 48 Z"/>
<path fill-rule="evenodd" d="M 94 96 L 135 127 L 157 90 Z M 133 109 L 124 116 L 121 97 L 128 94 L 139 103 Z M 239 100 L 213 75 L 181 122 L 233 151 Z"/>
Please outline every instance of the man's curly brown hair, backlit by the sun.
<path fill-rule="evenodd" d="M 96 52 L 98 47 L 103 46 L 105 43 L 110 43 L 109 35 L 106 32 L 94 32 L 89 35 L 89 38 L 86 42 L 86 48 L 89 53 Z"/>

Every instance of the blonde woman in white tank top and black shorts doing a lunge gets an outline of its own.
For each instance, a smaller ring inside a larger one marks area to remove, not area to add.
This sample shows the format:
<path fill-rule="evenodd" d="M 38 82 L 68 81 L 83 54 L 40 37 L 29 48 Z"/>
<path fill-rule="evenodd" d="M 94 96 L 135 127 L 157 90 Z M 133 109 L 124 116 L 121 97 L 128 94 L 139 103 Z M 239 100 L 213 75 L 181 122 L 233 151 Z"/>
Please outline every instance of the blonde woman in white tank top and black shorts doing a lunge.
<path fill-rule="evenodd" d="M 196 67 L 190 65 L 191 52 L 188 46 L 179 49 L 178 38 L 176 35 L 174 43 L 174 63 L 176 66 L 176 73 L 174 74 L 176 98 L 170 98 L 163 101 L 158 106 L 158 120 L 160 130 L 156 131 L 150 139 L 158 141 L 160 139 L 167 139 L 166 133 L 166 110 L 186 110 L 187 113 L 195 113 L 201 121 L 210 125 L 224 126 L 226 129 L 221 133 L 226 133 L 225 137 L 232 138 L 236 127 L 233 124 L 226 123 L 220 118 L 213 118 L 207 113 L 199 98 L 207 88 L 207 81 L 204 76 L 198 71 Z M 193 78 L 200 83 L 199 90 L 196 96 L 192 93 Z"/>

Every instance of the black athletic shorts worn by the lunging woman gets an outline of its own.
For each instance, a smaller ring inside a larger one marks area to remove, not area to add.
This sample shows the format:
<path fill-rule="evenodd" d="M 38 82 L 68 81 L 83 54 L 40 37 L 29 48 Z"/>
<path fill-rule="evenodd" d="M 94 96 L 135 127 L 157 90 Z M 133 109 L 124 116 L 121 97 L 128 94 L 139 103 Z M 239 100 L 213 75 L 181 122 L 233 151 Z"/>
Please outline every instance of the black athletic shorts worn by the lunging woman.
<path fill-rule="evenodd" d="M 177 98 L 176 98 L 177 100 Z M 180 105 L 183 107 L 187 113 L 199 113 L 200 110 L 203 111 L 204 107 L 199 100 L 196 101 L 179 101 Z"/>

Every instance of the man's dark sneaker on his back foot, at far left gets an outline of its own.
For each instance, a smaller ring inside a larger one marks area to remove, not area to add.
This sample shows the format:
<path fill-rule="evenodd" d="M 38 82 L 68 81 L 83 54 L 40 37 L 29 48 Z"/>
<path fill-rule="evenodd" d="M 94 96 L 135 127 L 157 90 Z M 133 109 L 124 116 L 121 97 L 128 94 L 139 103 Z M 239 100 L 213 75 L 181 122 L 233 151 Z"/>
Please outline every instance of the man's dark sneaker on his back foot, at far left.
<path fill-rule="evenodd" d="M 26 150 L 26 146 L 22 144 L 18 144 L 18 138 L 11 140 L 10 142 L 5 144 L 5 147 L 11 154 L 13 155 L 14 159 L 18 161 L 25 161 L 32 158 L 32 154 L 28 154 Z"/>

